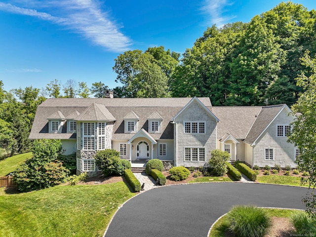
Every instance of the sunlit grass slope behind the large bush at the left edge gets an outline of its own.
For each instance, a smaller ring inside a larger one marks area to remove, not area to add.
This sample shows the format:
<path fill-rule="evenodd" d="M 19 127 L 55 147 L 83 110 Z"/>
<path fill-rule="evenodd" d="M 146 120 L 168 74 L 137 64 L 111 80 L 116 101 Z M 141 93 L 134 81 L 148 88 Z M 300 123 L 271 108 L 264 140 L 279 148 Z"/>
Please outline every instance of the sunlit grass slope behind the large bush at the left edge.
<path fill-rule="evenodd" d="M 15 168 L 24 160 L 31 158 L 32 152 L 19 154 L 0 161 L 0 176 L 6 176 L 13 172 Z"/>

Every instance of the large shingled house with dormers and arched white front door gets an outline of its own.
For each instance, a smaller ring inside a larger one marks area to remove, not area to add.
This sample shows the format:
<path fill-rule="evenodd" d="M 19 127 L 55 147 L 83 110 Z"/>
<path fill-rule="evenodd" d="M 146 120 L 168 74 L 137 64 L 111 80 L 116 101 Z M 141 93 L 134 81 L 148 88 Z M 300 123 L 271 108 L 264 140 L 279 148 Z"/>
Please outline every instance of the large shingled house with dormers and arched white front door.
<path fill-rule="evenodd" d="M 221 149 L 231 160 L 282 167 L 298 150 L 286 133 L 295 117 L 286 105 L 212 107 L 207 98 L 52 98 L 37 109 L 29 139 L 60 139 L 76 153 L 77 171 L 98 171 L 94 155 L 115 149 L 131 162 L 158 158 L 203 166 Z"/>

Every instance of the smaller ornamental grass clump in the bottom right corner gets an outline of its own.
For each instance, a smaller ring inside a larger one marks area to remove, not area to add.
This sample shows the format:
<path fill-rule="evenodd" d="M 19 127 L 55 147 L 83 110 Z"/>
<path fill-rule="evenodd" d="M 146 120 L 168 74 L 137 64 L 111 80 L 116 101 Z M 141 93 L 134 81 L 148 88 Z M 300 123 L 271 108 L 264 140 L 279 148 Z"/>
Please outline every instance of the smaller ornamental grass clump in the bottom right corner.
<path fill-rule="evenodd" d="M 295 228 L 295 234 L 300 236 L 313 236 L 316 233 L 316 221 L 305 211 L 295 211 L 290 216 L 290 221 Z"/>

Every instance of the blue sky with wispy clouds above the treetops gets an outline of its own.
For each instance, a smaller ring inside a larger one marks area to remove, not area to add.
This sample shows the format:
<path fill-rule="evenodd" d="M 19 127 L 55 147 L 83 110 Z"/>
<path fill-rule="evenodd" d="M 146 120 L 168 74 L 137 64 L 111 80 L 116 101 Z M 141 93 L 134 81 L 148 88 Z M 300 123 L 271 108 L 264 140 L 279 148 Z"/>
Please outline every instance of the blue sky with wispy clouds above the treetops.
<path fill-rule="evenodd" d="M 308 10 L 315 0 L 292 0 Z M 126 51 L 191 48 L 208 26 L 249 22 L 279 0 L 0 0 L 4 89 L 58 79 L 119 85 L 112 67 Z"/>

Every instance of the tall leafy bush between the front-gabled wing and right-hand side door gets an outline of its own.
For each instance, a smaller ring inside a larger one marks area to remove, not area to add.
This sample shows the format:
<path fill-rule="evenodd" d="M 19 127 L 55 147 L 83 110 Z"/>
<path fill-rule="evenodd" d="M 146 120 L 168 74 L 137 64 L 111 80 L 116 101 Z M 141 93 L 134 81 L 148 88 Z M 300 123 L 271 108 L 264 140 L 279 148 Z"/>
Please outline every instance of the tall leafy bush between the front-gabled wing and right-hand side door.
<path fill-rule="evenodd" d="M 211 151 L 211 158 L 209 160 L 210 168 L 212 173 L 217 176 L 223 176 L 227 173 L 227 164 L 226 161 L 230 158 L 228 152 L 223 152 L 221 150 Z"/>

